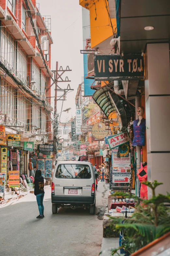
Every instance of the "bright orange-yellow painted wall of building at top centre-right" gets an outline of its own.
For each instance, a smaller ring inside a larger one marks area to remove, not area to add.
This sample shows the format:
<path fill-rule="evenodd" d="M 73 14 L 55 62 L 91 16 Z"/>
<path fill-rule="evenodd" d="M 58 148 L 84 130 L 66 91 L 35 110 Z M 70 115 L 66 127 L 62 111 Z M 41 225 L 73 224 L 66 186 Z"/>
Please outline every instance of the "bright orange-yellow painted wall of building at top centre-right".
<path fill-rule="evenodd" d="M 93 4 L 95 2 L 95 5 Z M 90 10 L 90 26 L 91 26 L 91 47 L 103 42 L 108 37 L 113 35 L 113 30 L 110 23 L 110 18 L 106 9 L 106 0 L 79 0 L 79 4 L 83 7 L 85 5 Z M 96 8 L 96 10 L 95 10 Z M 97 15 L 96 15 L 97 14 Z M 96 18 L 96 20 L 95 20 Z M 116 19 L 111 19 L 113 29 L 116 28 Z"/>

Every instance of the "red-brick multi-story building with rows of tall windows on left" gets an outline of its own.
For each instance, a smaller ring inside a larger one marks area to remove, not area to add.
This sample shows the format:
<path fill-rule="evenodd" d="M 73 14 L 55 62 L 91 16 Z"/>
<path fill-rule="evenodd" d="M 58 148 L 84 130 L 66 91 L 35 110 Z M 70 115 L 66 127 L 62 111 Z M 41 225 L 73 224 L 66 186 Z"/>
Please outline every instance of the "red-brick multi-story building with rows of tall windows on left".
<path fill-rule="evenodd" d="M 29 147 L 24 142 L 34 143 L 36 150 L 38 144 L 52 140 L 53 41 L 36 0 L 0 0 L 0 27 L 0 124 L 5 126 L 7 135 L 21 135 L 18 145 L 8 141 L 1 141 L 1 145 L 7 145 L 9 150 L 27 149 L 26 154 L 20 152 L 20 170 L 29 174 Z"/>

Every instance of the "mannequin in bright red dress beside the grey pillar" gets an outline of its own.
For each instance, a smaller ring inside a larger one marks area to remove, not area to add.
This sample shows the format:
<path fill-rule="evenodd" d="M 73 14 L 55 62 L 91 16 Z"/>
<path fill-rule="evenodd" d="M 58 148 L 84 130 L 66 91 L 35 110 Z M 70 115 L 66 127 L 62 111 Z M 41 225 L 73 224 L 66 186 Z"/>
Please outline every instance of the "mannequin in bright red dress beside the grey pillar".
<path fill-rule="evenodd" d="M 148 199 L 148 187 L 147 185 L 142 184 L 143 181 L 147 181 L 147 177 L 148 177 L 147 162 L 142 162 L 142 168 L 138 169 L 137 176 L 141 183 L 140 197 L 142 199 Z"/>

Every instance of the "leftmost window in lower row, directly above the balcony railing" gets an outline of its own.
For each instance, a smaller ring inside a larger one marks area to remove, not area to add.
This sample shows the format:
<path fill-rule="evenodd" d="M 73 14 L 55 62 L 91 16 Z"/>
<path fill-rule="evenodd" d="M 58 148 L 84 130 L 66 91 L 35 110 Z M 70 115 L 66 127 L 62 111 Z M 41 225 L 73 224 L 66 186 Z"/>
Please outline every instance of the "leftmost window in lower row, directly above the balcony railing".
<path fill-rule="evenodd" d="M 15 119 L 15 90 L 1 80 L 0 86 L 0 112 Z"/>

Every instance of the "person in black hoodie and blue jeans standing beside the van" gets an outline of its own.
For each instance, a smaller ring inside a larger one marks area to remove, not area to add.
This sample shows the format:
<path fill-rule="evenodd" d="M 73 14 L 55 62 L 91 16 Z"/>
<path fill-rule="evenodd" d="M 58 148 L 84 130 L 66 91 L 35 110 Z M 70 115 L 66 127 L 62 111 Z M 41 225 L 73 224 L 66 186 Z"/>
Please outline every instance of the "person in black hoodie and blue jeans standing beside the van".
<path fill-rule="evenodd" d="M 37 219 L 44 218 L 44 178 L 41 175 L 41 170 L 37 169 L 35 171 L 35 180 L 34 180 L 34 195 L 36 196 L 36 201 L 38 204 L 39 215 L 36 217 Z"/>

